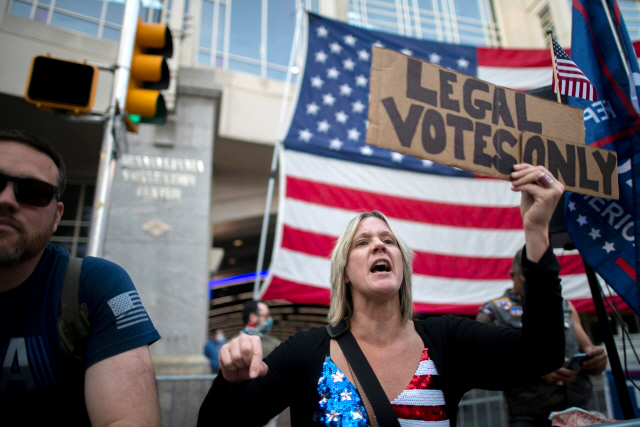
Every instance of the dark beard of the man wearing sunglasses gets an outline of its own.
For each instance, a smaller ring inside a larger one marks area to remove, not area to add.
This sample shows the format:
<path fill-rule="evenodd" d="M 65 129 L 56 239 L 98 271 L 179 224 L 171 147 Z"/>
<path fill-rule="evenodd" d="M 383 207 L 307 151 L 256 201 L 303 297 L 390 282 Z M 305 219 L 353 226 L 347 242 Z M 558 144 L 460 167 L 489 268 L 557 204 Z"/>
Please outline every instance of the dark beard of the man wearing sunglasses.
<path fill-rule="evenodd" d="M 10 215 L 0 208 L 0 217 L 10 217 Z M 19 227 L 17 241 L 13 243 L 0 237 L 0 267 L 18 265 L 37 256 L 51 239 L 54 221 L 55 216 L 51 218 L 47 227 L 39 230 L 27 230 L 25 227 Z"/>

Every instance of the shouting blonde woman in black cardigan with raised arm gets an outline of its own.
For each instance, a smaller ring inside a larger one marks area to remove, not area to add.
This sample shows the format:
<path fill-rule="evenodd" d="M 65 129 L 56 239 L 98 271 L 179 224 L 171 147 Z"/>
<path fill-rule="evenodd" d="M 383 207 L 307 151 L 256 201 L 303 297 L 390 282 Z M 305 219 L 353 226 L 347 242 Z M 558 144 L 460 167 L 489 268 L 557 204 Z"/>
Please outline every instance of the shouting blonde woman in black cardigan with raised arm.
<path fill-rule="evenodd" d="M 548 231 L 564 186 L 528 164 L 514 165 L 511 179 L 525 235 L 521 330 L 456 316 L 412 320 L 413 253 L 381 212 L 364 212 L 347 224 L 331 255 L 331 331 L 298 332 L 264 360 L 259 337 L 240 334 L 225 344 L 198 426 L 261 426 L 287 407 L 295 426 L 376 425 L 372 398 L 352 372 L 365 362 L 352 367 L 337 337 L 360 348 L 380 383 L 376 404 L 403 425 L 455 426 L 469 390 L 505 390 L 558 369 L 560 265 Z"/>

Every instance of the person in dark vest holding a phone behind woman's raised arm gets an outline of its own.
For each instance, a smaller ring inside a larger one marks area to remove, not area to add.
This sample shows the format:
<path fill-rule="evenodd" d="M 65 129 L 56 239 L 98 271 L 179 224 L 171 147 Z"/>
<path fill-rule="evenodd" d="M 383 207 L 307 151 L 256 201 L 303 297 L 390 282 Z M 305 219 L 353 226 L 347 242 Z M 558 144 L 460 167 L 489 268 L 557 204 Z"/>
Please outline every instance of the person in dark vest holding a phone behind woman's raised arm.
<path fill-rule="evenodd" d="M 476 320 L 508 328 L 521 329 L 525 278 L 522 273 L 522 250 L 513 258 L 509 271 L 513 288 L 480 307 Z M 593 385 L 590 375 L 599 375 L 607 366 L 602 347 L 594 346 L 582 328 L 578 312 L 563 300 L 565 325 L 565 362 L 576 353 L 590 359 L 578 366 L 559 368 L 521 387 L 506 390 L 505 402 L 511 427 L 551 426 L 549 414 L 571 407 L 586 409 Z"/>

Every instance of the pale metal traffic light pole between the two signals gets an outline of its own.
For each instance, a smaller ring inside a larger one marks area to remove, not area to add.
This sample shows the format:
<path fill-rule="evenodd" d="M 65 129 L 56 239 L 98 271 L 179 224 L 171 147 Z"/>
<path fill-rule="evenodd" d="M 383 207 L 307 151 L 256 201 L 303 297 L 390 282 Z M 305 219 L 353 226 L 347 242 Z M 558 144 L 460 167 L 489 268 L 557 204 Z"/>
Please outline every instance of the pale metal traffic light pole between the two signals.
<path fill-rule="evenodd" d="M 116 121 L 122 120 L 121 113 L 127 99 L 130 66 L 131 59 L 133 58 L 133 45 L 136 38 L 139 13 L 140 0 L 126 0 L 116 68 L 113 76 L 111 101 L 109 103 L 108 117 L 102 137 L 100 165 L 98 166 L 96 191 L 93 198 L 93 217 L 89 230 L 88 256 L 100 257 L 104 249 L 107 214 L 109 212 L 111 199 L 111 185 L 113 183 L 116 163 L 114 129 Z"/>

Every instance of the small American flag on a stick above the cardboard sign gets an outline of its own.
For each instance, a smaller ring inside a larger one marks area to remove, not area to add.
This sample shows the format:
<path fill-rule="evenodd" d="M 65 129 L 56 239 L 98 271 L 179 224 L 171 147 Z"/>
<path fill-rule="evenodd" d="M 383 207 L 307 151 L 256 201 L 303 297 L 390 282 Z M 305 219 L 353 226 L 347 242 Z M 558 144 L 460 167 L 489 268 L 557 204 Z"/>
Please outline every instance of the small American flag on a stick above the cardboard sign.
<path fill-rule="evenodd" d="M 558 86 L 561 95 L 571 95 L 577 98 L 588 99 L 589 101 L 597 101 L 598 93 L 596 88 L 591 84 L 587 76 L 578 68 L 578 66 L 569 58 L 567 52 L 560 47 L 556 39 L 551 37 L 553 41 L 553 54 L 556 57 L 556 70 L 558 71 Z M 554 74 L 553 92 L 557 93 L 556 76 Z"/>

